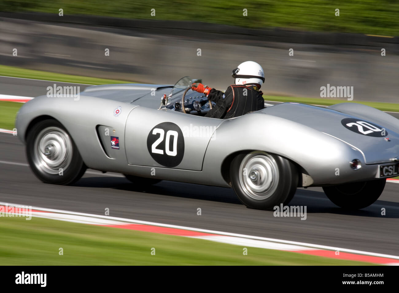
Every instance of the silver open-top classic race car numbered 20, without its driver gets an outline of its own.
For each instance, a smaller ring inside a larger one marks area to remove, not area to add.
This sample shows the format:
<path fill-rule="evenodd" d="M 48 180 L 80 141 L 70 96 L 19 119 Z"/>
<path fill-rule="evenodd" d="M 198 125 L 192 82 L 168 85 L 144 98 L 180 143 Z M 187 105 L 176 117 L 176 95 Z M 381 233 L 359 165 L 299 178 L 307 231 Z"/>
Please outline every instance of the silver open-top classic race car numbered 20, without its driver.
<path fill-rule="evenodd" d="M 195 82 L 198 82 L 196 80 Z M 204 117 L 212 104 L 176 85 L 99 85 L 79 98 L 39 96 L 16 127 L 45 183 L 72 184 L 86 168 L 138 185 L 172 180 L 232 187 L 257 209 L 287 204 L 297 187 L 322 186 L 342 208 L 364 208 L 399 175 L 399 120 L 345 102 L 269 105 L 240 117 Z"/>

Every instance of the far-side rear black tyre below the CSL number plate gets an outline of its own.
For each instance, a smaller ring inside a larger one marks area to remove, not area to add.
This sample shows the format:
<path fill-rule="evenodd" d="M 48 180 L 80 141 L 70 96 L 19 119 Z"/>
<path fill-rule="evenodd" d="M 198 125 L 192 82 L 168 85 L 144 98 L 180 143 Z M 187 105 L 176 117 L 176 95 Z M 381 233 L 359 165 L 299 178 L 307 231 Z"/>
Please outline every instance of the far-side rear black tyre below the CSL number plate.
<path fill-rule="evenodd" d="M 385 187 L 386 179 L 345 183 L 323 187 L 328 199 L 341 208 L 358 210 L 375 203 Z"/>

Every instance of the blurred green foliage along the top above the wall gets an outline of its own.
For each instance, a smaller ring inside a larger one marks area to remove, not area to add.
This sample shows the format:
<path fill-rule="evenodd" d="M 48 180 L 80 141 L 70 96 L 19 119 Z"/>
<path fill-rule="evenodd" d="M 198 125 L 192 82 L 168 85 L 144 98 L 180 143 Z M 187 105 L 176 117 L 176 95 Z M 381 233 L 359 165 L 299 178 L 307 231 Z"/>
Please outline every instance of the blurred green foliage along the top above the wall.
<path fill-rule="evenodd" d="M 0 11 L 91 14 L 120 18 L 192 20 L 248 28 L 280 27 L 399 35 L 399 1 L 392 0 L 3 0 Z M 151 9 L 156 16 L 151 16 Z M 340 16 L 335 16 L 335 10 Z M 247 9 L 248 16 L 243 16 Z"/>

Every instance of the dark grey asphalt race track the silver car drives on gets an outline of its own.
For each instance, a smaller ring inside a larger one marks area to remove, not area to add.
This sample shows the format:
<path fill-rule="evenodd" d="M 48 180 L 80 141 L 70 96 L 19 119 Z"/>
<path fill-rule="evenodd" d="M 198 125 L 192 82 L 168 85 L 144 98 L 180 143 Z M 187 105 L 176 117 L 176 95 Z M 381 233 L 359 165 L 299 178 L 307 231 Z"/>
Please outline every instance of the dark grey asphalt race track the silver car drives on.
<path fill-rule="evenodd" d="M 1 94 L 36 96 L 51 85 L 13 80 L 0 78 Z M 142 190 L 116 176 L 89 170 L 73 186 L 41 183 L 28 167 L 18 137 L 0 133 L 2 202 L 92 214 L 109 208 L 110 216 L 399 255 L 397 183 L 387 183 L 376 203 L 355 212 L 335 206 L 321 188 L 300 188 L 290 203 L 307 206 L 307 218 L 300 220 L 246 208 L 232 189 L 162 181 Z"/>

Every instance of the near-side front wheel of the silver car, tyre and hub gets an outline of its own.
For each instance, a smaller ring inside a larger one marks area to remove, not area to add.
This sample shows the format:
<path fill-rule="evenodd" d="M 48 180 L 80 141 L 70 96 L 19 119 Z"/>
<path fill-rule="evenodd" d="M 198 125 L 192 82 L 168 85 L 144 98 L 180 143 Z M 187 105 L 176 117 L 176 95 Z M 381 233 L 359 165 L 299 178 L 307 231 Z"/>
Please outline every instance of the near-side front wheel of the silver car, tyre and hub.
<path fill-rule="evenodd" d="M 87 168 L 75 142 L 57 120 L 42 120 L 29 130 L 26 155 L 33 173 L 44 183 L 72 184 Z"/>

